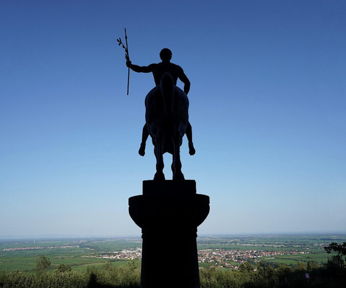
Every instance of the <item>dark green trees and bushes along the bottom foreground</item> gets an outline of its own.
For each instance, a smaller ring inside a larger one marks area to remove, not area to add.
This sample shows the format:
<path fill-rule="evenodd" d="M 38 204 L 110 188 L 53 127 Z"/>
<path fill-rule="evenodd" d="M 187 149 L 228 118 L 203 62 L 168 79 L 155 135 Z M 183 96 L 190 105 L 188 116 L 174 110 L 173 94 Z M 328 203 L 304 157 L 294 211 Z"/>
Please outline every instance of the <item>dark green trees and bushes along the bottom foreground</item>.
<path fill-rule="evenodd" d="M 202 288 L 266 288 L 266 287 L 344 287 L 346 283 L 346 242 L 331 243 L 327 253 L 336 252 L 327 263 L 298 262 L 292 268 L 287 264 L 271 264 L 265 260 L 245 262 L 239 270 L 200 269 Z M 140 286 L 140 268 L 135 261 L 126 267 L 113 267 L 106 262 L 102 268 L 91 267 L 86 272 L 72 271 L 70 265 L 60 264 L 55 271 L 47 271 L 51 262 L 40 256 L 36 273 L 12 271 L 0 272 L 0 287 L 40 288 L 131 288 Z M 184 269 L 182 267 L 182 269 Z M 167 279 L 169 281 L 169 279 Z M 183 284 L 183 283 L 182 283 Z M 182 285 L 183 286 L 183 285 Z M 164 287 L 164 283 L 163 283 Z"/>

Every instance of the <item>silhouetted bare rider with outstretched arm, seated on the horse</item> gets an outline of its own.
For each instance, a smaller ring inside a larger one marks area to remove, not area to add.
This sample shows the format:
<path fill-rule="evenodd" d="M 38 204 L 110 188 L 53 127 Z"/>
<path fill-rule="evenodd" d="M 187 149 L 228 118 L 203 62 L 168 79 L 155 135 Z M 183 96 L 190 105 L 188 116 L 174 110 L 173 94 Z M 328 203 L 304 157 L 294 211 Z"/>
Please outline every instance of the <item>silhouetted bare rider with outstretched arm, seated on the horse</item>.
<path fill-rule="evenodd" d="M 165 72 L 168 72 L 172 76 L 175 85 L 177 85 L 178 78 L 184 83 L 184 92 L 187 95 L 187 93 L 190 90 L 190 81 L 189 81 L 189 79 L 187 79 L 186 75 L 184 74 L 183 69 L 180 66 L 170 62 L 170 59 L 172 58 L 172 52 L 169 49 L 164 48 L 160 52 L 160 58 L 161 58 L 162 62 L 157 63 L 157 64 L 154 63 L 154 64 L 150 64 L 148 66 L 137 66 L 137 65 L 132 64 L 131 61 L 126 61 L 126 66 L 128 68 L 131 68 L 135 72 L 143 72 L 143 73 L 152 72 L 156 85 L 160 85 L 161 76 Z M 196 150 L 194 150 L 193 143 L 192 143 L 192 127 L 191 127 L 190 122 L 187 123 L 185 134 L 186 134 L 187 140 L 189 142 L 189 144 L 188 144 L 189 145 L 189 154 L 193 155 L 196 152 Z M 148 132 L 148 129 L 146 127 L 146 124 L 144 124 L 143 132 L 142 132 L 142 143 L 141 143 L 141 146 L 140 146 L 139 151 L 138 151 L 138 153 L 141 156 L 144 156 L 145 142 L 146 142 L 148 136 L 149 136 L 149 132 Z"/>

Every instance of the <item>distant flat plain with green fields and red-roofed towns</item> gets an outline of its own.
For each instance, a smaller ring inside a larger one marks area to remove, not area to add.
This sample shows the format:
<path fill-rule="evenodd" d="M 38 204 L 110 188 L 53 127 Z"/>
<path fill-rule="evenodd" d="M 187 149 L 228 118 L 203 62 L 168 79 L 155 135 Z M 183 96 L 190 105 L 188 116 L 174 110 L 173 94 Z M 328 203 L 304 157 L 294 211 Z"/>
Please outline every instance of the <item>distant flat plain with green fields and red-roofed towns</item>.
<path fill-rule="evenodd" d="M 163 238 L 162 241 L 165 241 Z M 272 264 L 294 267 L 298 262 L 327 262 L 330 254 L 323 247 L 332 242 L 345 242 L 346 233 L 219 235 L 197 238 L 201 268 L 236 270 L 244 262 L 264 259 Z M 51 261 L 49 270 L 68 264 L 72 270 L 85 271 L 109 262 L 114 267 L 133 261 L 141 263 L 140 238 L 27 238 L 0 240 L 0 271 L 35 272 L 36 261 L 45 255 Z M 169 247 L 166 255 L 169 261 Z M 184 255 L 181 255 L 184 258 Z"/>

